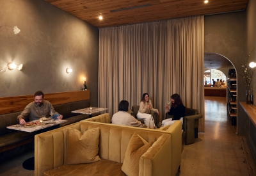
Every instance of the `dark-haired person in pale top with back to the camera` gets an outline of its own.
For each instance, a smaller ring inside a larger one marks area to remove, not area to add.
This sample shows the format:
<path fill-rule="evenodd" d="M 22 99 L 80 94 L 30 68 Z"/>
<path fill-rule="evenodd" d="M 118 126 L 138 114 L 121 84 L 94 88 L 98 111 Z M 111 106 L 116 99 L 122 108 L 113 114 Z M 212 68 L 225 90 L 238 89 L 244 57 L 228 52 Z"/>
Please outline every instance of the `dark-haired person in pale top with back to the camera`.
<path fill-rule="evenodd" d="M 134 116 L 127 113 L 129 108 L 129 102 L 122 100 L 118 104 L 118 112 L 112 116 L 112 124 L 116 125 L 127 125 L 132 127 L 144 127 L 140 121 L 136 120 Z"/>

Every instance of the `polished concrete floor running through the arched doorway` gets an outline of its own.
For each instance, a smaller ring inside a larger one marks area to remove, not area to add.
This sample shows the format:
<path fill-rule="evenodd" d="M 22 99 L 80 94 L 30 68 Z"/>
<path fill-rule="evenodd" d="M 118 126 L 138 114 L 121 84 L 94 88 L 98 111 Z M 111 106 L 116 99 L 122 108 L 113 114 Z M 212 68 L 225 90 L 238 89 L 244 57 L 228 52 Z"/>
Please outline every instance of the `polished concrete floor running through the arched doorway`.
<path fill-rule="evenodd" d="M 177 176 L 248 176 L 240 138 L 245 141 L 250 165 L 256 175 L 255 162 L 246 138 L 237 136 L 236 126 L 232 126 L 227 117 L 225 97 L 205 97 L 205 132 L 199 132 L 195 143 L 184 146 Z M 0 175 L 34 175 L 34 171 L 22 168 L 22 162 L 32 157 L 33 152 L 31 150 L 0 163 Z"/>

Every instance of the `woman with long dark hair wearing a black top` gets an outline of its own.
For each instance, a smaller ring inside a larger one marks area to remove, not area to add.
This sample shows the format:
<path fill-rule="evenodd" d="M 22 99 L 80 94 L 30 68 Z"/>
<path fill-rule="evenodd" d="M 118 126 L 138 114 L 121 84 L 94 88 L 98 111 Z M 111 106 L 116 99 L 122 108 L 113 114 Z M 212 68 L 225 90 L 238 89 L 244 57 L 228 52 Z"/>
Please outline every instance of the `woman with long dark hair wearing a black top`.
<path fill-rule="evenodd" d="M 182 100 L 180 99 L 180 95 L 175 93 L 171 96 L 172 104 L 171 109 L 169 109 L 168 105 L 165 106 L 165 109 L 168 111 L 168 115 L 173 115 L 173 118 L 168 118 L 162 121 L 162 126 L 173 124 L 173 120 L 183 120 L 185 116 L 186 107 L 182 104 Z"/>

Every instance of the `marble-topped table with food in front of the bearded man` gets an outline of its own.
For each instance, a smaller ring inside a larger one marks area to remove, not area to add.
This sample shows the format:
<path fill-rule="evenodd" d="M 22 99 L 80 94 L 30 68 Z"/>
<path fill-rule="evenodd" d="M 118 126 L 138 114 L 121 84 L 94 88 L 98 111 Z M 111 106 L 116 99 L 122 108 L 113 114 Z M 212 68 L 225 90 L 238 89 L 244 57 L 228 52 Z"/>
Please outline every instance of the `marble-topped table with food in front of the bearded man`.
<path fill-rule="evenodd" d="M 36 121 L 39 122 L 39 120 L 33 120 L 31 122 L 36 122 Z M 28 123 L 31 123 L 31 122 L 28 122 Z M 26 127 L 24 125 L 16 124 L 16 125 L 8 126 L 6 128 L 17 130 L 17 131 L 34 132 L 34 131 L 39 131 L 39 130 L 42 130 L 42 129 L 47 130 L 47 128 L 49 128 L 49 127 L 53 127 L 55 125 L 60 125 L 60 124 L 63 124 L 65 122 L 67 122 L 67 120 L 62 120 L 62 119 L 54 120 L 54 119 L 50 119 L 50 120 L 43 121 L 43 123 L 40 124 L 40 125 L 32 125 L 32 126 Z M 45 132 L 45 130 L 43 130 L 42 132 Z M 30 157 L 29 159 L 26 159 L 22 163 L 22 166 L 26 170 L 35 170 L 35 157 Z"/>

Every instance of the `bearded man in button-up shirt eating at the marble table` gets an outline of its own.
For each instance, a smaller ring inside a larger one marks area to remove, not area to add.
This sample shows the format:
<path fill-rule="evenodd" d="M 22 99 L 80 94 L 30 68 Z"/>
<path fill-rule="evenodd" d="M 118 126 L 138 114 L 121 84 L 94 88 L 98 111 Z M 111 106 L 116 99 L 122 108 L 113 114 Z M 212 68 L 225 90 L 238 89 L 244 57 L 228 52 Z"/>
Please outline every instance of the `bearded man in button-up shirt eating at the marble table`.
<path fill-rule="evenodd" d="M 29 117 L 29 121 L 38 120 L 41 117 L 50 116 L 50 112 L 53 114 L 52 118 L 62 119 L 63 116 L 58 114 L 52 107 L 51 102 L 44 100 L 44 93 L 42 91 L 37 91 L 34 94 L 35 101 L 29 103 L 22 113 L 17 117 L 20 125 L 26 124 L 24 118 Z"/>

